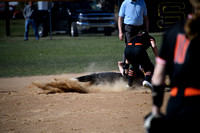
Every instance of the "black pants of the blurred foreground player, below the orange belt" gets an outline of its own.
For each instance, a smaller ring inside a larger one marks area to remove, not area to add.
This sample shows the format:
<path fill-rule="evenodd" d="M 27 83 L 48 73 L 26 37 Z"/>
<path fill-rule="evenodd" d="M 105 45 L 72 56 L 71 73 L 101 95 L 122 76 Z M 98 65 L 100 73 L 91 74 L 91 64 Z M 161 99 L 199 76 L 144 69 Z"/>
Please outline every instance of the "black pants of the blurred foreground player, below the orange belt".
<path fill-rule="evenodd" d="M 166 116 L 170 133 L 200 132 L 200 95 L 184 96 L 184 89 L 179 89 L 170 97 Z"/>

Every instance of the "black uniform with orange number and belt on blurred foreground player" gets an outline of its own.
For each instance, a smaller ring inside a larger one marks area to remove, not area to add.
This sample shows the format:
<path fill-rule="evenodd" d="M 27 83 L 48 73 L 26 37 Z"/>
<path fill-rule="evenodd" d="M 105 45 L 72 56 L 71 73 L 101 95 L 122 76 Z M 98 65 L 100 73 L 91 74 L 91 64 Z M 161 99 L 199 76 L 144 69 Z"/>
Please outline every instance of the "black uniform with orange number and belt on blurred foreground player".
<path fill-rule="evenodd" d="M 184 22 L 163 36 L 159 59 L 166 63 L 171 97 L 166 117 L 169 132 L 200 132 L 200 36 L 186 38 Z"/>

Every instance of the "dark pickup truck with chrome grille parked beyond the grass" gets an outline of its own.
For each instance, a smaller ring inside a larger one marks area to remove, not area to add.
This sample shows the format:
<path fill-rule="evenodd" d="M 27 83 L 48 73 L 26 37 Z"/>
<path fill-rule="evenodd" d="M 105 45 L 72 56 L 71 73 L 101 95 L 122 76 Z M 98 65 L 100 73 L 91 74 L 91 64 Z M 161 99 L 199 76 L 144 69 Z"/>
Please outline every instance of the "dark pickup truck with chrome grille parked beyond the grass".
<path fill-rule="evenodd" d="M 50 10 L 38 10 L 38 33 L 47 36 Z M 51 27 L 54 32 L 65 32 L 72 37 L 79 33 L 101 32 L 106 36 L 115 30 L 114 11 L 98 8 L 92 1 L 60 1 L 51 3 Z"/>

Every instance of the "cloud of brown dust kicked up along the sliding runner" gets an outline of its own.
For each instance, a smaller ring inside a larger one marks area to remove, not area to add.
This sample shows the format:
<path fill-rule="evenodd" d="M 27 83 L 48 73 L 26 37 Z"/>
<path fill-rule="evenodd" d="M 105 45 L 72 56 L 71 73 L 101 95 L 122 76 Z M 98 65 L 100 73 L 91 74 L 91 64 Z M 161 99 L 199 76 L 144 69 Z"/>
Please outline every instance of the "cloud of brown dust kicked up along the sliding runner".
<path fill-rule="evenodd" d="M 142 89 L 138 83 L 133 84 L 133 88 L 126 88 L 126 82 L 123 80 L 115 81 L 114 83 L 100 83 L 98 85 L 91 84 L 90 82 L 79 82 L 77 79 L 54 79 L 53 82 L 33 82 L 37 88 L 43 90 L 43 93 L 98 93 L 98 92 L 123 92 L 129 90 Z"/>

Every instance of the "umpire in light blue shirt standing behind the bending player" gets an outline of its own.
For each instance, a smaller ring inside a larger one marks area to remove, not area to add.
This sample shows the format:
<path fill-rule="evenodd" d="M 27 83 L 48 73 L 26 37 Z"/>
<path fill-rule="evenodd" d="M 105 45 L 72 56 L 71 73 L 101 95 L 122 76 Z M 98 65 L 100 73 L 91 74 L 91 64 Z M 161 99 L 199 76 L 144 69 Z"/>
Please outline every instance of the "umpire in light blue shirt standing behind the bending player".
<path fill-rule="evenodd" d="M 125 44 L 138 34 L 143 25 L 149 32 L 149 20 L 144 0 L 124 0 L 122 3 L 118 18 L 119 39 L 121 41 L 124 37 L 123 24 L 125 25 Z"/>

